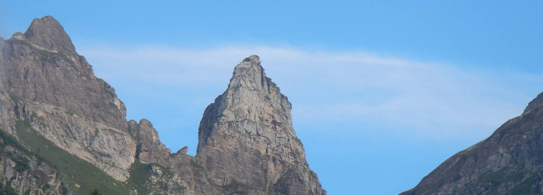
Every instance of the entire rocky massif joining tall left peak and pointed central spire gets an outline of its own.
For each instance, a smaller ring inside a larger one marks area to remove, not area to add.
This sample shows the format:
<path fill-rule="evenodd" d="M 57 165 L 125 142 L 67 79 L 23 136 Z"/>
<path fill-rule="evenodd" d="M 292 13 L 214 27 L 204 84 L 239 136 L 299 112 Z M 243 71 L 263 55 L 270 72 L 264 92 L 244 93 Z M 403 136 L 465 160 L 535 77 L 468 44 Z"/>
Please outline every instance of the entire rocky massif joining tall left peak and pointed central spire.
<path fill-rule="evenodd" d="M 0 133 L 14 143 L 0 144 L 0 191 L 326 194 L 290 110 L 250 56 L 205 110 L 197 155 L 186 147 L 171 154 L 151 122 L 126 120 L 115 90 L 94 76 L 59 22 L 35 19 L 25 33 L 0 39 Z"/>

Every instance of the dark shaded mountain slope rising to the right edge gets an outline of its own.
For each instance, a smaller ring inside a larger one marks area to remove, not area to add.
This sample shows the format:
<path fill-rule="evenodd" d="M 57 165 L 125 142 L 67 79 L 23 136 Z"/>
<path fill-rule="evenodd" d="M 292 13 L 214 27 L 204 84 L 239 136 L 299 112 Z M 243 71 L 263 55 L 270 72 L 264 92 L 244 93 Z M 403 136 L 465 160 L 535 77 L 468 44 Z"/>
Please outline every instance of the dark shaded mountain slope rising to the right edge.
<path fill-rule="evenodd" d="M 409 194 L 543 193 L 543 93 L 522 115 L 463 150 L 420 181 Z"/>

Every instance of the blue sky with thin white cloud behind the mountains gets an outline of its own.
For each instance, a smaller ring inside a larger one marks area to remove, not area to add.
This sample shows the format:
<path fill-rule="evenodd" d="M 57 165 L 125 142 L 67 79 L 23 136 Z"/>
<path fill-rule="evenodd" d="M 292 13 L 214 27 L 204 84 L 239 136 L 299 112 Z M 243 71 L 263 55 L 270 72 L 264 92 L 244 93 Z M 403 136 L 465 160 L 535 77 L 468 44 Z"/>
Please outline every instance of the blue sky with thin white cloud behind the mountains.
<path fill-rule="evenodd" d="M 52 15 L 128 118 L 194 154 L 205 107 L 260 55 L 329 194 L 397 194 L 543 91 L 541 1 L 8 1 Z"/>

